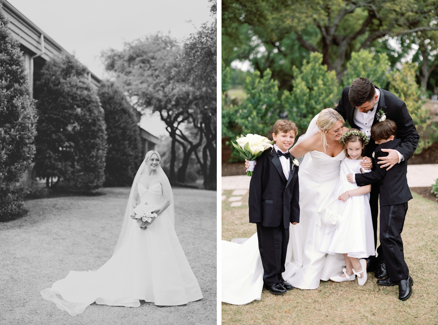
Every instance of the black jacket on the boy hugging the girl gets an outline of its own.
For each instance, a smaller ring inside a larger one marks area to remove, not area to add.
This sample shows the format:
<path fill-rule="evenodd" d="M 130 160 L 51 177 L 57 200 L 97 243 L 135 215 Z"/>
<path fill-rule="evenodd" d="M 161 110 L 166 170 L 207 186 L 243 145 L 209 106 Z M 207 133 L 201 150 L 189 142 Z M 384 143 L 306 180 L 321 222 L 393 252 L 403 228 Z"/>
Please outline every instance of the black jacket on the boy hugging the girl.
<path fill-rule="evenodd" d="M 395 149 L 399 147 L 401 140 L 395 138 L 392 141 L 378 145 L 374 152 L 374 164 L 378 166 L 378 157 L 385 157 L 388 152 L 383 152 L 381 149 Z M 412 198 L 408 181 L 406 178 L 407 161 L 404 160 L 399 164 L 395 164 L 392 168 L 386 171 L 386 168 L 377 167 L 374 171 L 364 174 L 356 174 L 356 184 L 364 186 L 372 183 L 379 183 L 380 186 L 380 206 L 395 205 L 405 203 Z"/>

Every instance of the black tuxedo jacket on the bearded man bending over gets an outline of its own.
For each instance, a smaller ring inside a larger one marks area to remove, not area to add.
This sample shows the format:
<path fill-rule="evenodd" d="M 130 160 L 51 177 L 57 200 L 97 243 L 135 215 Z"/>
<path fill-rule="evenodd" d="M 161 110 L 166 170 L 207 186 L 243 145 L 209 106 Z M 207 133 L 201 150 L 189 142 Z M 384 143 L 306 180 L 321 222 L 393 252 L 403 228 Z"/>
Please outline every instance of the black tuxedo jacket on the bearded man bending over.
<path fill-rule="evenodd" d="M 375 115 L 380 109 L 382 109 L 386 113 L 387 119 L 396 122 L 397 136 L 402 140 L 402 142 L 394 149 L 400 152 L 405 157 L 405 161 L 407 161 L 410 157 L 412 157 L 415 149 L 417 149 L 418 140 L 420 139 L 417 129 L 413 124 L 412 117 L 410 117 L 409 112 L 406 108 L 406 104 L 405 102 L 403 102 L 403 100 L 399 99 L 392 92 L 378 88 L 377 86 L 374 87 L 380 90 L 379 103 L 377 105 L 377 109 L 373 110 L 372 112 L 368 112 L 368 114 Z M 353 115 L 356 107 L 351 105 L 350 100 L 348 99 L 349 90 L 350 86 L 344 88 L 341 100 L 339 100 L 339 104 L 335 108 L 335 110 L 339 114 L 341 114 L 344 120 L 348 121 L 351 127 L 359 129 L 359 127 L 357 127 L 353 120 Z M 374 118 L 373 125 L 376 123 L 377 119 Z M 376 147 L 377 145 L 371 138 L 370 143 L 368 143 L 368 145 L 365 147 L 364 155 L 367 157 L 371 157 L 371 154 L 374 152 Z"/>

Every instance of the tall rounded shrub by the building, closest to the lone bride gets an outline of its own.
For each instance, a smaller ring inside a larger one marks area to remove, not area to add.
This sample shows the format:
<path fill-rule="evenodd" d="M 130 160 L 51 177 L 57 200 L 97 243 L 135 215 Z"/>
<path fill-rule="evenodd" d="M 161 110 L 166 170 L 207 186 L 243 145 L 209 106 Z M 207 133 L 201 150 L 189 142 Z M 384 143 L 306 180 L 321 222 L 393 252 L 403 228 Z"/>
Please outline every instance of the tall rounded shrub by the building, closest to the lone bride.
<path fill-rule="evenodd" d="M 105 111 L 105 186 L 131 186 L 141 163 L 141 142 L 137 110 L 114 82 L 102 82 L 98 91 Z"/>

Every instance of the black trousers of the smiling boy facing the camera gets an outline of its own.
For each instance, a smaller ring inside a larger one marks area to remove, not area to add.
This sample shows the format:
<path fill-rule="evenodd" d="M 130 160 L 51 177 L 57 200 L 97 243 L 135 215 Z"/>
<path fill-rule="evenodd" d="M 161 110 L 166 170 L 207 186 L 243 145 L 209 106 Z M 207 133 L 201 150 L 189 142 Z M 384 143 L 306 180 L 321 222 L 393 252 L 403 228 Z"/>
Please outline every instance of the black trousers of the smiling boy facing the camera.
<path fill-rule="evenodd" d="M 272 286 L 283 280 L 286 250 L 289 243 L 289 228 L 284 229 L 283 222 L 277 227 L 265 227 L 257 224 L 258 249 L 263 265 L 265 285 Z"/>

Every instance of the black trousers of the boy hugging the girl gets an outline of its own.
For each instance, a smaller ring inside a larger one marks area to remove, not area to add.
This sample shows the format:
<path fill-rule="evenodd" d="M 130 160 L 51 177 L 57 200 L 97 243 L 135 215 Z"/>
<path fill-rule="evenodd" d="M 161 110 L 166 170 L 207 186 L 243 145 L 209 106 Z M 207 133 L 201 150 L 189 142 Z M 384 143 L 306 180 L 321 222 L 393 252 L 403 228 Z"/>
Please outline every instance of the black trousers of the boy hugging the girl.
<path fill-rule="evenodd" d="M 386 272 L 392 282 L 409 276 L 400 237 L 407 211 L 408 202 L 380 207 L 380 243 L 385 255 Z"/>

